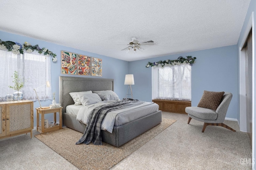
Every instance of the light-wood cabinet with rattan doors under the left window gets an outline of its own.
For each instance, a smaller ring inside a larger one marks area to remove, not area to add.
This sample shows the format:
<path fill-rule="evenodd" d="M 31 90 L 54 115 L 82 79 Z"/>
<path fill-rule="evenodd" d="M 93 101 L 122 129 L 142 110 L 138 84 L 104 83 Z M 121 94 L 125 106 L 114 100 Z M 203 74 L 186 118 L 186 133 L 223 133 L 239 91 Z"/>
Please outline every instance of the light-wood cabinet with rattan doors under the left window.
<path fill-rule="evenodd" d="M 30 133 L 34 125 L 34 103 L 30 100 L 0 102 L 0 139 Z"/>

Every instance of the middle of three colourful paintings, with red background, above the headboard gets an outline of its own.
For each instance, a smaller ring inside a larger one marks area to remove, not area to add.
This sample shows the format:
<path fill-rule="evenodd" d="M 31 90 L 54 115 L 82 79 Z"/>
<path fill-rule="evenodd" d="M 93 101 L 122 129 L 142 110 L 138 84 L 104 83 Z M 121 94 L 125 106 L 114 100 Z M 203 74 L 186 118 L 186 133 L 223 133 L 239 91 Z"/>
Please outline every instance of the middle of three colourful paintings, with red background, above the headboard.
<path fill-rule="evenodd" d="M 78 75 L 91 75 L 90 61 L 91 57 L 78 54 Z"/>

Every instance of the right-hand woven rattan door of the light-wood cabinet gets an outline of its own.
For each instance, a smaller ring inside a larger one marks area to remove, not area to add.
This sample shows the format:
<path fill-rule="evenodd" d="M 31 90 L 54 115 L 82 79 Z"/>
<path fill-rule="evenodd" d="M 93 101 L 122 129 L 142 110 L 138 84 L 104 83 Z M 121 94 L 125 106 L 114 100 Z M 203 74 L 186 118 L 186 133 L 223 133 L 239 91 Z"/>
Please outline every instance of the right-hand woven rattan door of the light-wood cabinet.
<path fill-rule="evenodd" d="M 31 102 L 6 104 L 6 135 L 32 128 Z"/>

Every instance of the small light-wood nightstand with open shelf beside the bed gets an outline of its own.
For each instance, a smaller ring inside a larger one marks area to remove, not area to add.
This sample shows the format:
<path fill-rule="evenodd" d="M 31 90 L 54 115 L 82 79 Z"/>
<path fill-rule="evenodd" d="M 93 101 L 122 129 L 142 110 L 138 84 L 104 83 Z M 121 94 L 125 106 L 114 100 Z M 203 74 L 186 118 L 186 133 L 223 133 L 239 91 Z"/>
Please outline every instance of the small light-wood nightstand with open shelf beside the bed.
<path fill-rule="evenodd" d="M 62 108 L 63 107 L 49 108 L 49 109 L 40 109 L 40 107 L 36 108 L 36 120 L 37 120 L 36 130 L 40 133 L 47 133 L 50 131 L 56 131 L 58 129 L 62 129 Z M 44 128 L 44 114 L 54 113 L 54 121 L 56 122 L 56 113 L 57 112 L 59 112 L 59 115 L 60 115 L 59 125 L 54 126 L 54 127 Z M 39 114 L 41 114 L 41 126 L 39 125 L 39 121 L 40 121 Z"/>

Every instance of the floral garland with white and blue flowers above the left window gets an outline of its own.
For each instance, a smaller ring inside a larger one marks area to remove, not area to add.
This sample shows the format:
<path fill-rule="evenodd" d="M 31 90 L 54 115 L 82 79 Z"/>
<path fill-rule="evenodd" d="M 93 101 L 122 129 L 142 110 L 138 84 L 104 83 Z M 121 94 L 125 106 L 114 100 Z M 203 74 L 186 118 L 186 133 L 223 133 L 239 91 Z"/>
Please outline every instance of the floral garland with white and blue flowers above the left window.
<path fill-rule="evenodd" d="M 34 50 L 38 51 L 39 54 L 42 54 L 49 57 L 52 56 L 52 61 L 56 62 L 56 54 L 52 53 L 52 51 L 49 51 L 47 48 L 40 48 L 38 45 L 32 46 L 30 43 L 25 42 L 23 45 L 17 42 L 12 42 L 12 41 L 2 41 L 0 39 L 0 50 L 7 50 L 7 51 L 12 51 L 14 54 L 23 54 L 24 51 L 26 53 L 32 53 Z"/>

